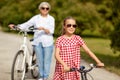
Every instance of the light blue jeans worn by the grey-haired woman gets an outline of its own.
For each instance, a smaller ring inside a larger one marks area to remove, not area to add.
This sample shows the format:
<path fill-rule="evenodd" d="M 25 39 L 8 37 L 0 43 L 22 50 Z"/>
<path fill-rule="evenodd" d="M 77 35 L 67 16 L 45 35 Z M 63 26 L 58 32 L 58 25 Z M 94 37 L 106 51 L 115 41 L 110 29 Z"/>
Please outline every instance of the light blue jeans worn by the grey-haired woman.
<path fill-rule="evenodd" d="M 39 74 L 41 78 L 48 78 L 50 73 L 50 64 L 53 53 L 53 45 L 48 47 L 43 47 L 42 43 L 35 45 L 35 52 L 37 55 Z"/>

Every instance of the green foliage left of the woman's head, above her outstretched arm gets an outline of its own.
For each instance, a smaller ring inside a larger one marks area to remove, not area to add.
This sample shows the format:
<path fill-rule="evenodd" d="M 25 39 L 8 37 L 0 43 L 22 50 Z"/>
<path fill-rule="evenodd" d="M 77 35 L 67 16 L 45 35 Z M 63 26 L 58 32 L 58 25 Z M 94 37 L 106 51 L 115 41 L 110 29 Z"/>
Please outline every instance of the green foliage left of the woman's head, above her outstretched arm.
<path fill-rule="evenodd" d="M 6 1 L 6 4 L 0 9 L 0 24 L 4 31 L 9 31 L 8 24 L 20 24 L 33 15 L 38 13 L 38 6 L 40 1 L 36 0 L 11 0 Z M 34 4 L 34 5 L 33 5 Z"/>

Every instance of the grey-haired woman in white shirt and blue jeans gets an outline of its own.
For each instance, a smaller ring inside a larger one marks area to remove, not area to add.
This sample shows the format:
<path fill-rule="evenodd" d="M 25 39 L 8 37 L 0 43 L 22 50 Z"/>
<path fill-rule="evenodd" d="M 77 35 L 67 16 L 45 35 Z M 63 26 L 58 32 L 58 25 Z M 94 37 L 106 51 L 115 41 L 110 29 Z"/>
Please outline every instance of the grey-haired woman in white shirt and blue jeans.
<path fill-rule="evenodd" d="M 38 28 L 34 33 L 33 45 L 36 51 L 39 65 L 39 80 L 47 80 L 50 72 L 50 64 L 53 53 L 53 33 L 55 28 L 55 20 L 49 15 L 51 6 L 48 2 L 42 2 L 39 5 L 40 14 L 33 16 L 30 20 L 23 24 L 19 24 L 20 29 L 28 29 L 31 26 Z M 14 28 L 14 24 L 10 24 L 10 28 Z"/>

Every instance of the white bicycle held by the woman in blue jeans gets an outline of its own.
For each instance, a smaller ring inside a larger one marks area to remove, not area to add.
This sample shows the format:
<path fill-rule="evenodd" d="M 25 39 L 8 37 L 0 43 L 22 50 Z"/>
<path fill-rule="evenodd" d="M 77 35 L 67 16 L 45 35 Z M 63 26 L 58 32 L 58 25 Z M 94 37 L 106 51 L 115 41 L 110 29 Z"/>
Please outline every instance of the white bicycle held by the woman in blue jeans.
<path fill-rule="evenodd" d="M 39 75 L 35 51 L 33 49 L 33 51 L 30 52 L 29 47 L 27 46 L 28 32 L 33 30 L 34 29 L 25 31 L 19 29 L 19 31 L 23 33 L 23 43 L 13 59 L 11 80 L 25 80 L 25 74 L 28 70 L 31 71 L 33 78 L 37 78 Z M 32 42 L 32 40 L 30 40 L 30 42 Z M 31 47 L 33 48 L 32 45 Z"/>

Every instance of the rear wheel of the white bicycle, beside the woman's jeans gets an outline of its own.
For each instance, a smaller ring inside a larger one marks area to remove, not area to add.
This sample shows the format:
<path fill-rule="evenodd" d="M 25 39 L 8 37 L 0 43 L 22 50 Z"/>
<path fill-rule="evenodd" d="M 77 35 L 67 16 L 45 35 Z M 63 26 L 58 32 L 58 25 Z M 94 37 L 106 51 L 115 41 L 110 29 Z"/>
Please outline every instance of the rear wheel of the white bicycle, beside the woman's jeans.
<path fill-rule="evenodd" d="M 36 53 L 35 51 L 33 51 L 33 55 L 32 55 L 32 66 L 33 69 L 31 69 L 31 75 L 33 78 L 38 78 L 39 76 L 39 69 L 38 69 L 38 65 L 37 65 L 37 60 L 36 60 Z"/>

